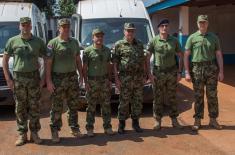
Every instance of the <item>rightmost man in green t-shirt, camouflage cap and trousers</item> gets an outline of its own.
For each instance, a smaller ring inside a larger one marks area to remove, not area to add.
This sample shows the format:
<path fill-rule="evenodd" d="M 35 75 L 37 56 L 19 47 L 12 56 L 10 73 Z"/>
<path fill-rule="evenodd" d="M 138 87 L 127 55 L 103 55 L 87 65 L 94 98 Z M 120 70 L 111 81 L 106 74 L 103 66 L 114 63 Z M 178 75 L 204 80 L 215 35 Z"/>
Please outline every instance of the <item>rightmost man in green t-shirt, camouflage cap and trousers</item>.
<path fill-rule="evenodd" d="M 201 126 L 201 119 L 204 116 L 204 87 L 208 102 L 210 117 L 209 125 L 222 129 L 216 118 L 219 115 L 217 84 L 222 81 L 223 56 L 218 37 L 207 32 L 208 16 L 200 15 L 197 20 L 199 30 L 189 36 L 185 46 L 185 79 L 193 82 L 195 92 L 195 122 L 192 130 L 198 130 Z M 189 56 L 192 56 L 191 68 L 189 67 Z"/>

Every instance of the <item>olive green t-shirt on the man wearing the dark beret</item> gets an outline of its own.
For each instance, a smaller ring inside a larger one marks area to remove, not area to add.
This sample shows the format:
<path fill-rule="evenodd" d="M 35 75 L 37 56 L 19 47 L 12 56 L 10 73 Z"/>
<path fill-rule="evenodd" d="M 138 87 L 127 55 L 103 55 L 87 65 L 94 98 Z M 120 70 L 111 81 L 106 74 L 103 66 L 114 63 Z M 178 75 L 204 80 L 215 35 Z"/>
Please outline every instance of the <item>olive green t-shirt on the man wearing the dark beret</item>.
<path fill-rule="evenodd" d="M 175 37 L 169 35 L 163 40 L 157 35 L 148 43 L 147 51 L 153 54 L 154 66 L 169 68 L 176 65 L 175 55 L 182 50 Z"/>

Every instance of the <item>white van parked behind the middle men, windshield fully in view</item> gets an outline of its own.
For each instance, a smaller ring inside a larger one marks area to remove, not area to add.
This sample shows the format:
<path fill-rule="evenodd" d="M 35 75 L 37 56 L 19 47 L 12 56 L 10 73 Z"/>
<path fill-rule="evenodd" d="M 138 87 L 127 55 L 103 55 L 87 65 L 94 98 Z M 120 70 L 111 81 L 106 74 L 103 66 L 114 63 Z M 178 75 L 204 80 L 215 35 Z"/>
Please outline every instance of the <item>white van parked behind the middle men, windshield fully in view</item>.
<path fill-rule="evenodd" d="M 135 24 L 136 38 L 145 46 L 154 37 L 151 20 L 142 0 L 81 0 L 77 14 L 72 16 L 72 29 L 81 46 L 87 47 L 92 44 L 92 30 L 101 27 L 105 33 L 104 43 L 111 48 L 124 37 L 125 22 Z M 150 85 L 144 88 L 144 100 L 151 102 Z"/>

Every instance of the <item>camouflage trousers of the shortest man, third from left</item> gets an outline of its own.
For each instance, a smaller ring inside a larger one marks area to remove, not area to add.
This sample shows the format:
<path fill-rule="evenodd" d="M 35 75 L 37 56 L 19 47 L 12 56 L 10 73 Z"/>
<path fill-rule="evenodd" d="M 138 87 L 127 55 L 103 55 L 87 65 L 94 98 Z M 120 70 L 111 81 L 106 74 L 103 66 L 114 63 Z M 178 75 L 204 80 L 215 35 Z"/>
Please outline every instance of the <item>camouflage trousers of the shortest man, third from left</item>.
<path fill-rule="evenodd" d="M 88 80 L 88 84 L 90 86 L 90 91 L 86 94 L 88 101 L 88 106 L 86 109 L 86 129 L 94 129 L 97 104 L 100 104 L 101 107 L 104 129 L 112 128 L 110 106 L 111 88 L 109 86 L 109 80 Z"/>

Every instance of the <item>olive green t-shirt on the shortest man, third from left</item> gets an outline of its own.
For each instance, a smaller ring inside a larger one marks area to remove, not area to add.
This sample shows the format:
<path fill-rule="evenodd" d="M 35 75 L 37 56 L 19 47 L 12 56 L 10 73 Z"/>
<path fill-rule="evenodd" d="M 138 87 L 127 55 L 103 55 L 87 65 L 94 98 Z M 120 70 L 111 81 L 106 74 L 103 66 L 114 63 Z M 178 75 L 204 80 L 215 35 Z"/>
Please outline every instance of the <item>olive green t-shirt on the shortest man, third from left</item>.
<path fill-rule="evenodd" d="M 88 65 L 88 76 L 105 76 L 108 74 L 107 65 L 111 61 L 110 49 L 101 49 L 93 45 L 87 47 L 83 53 L 83 63 Z"/>

